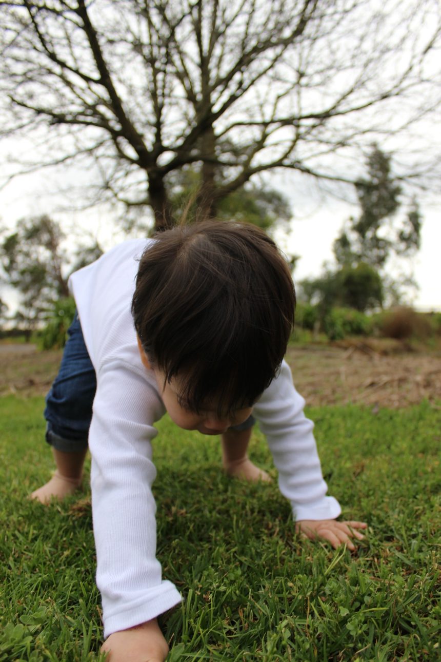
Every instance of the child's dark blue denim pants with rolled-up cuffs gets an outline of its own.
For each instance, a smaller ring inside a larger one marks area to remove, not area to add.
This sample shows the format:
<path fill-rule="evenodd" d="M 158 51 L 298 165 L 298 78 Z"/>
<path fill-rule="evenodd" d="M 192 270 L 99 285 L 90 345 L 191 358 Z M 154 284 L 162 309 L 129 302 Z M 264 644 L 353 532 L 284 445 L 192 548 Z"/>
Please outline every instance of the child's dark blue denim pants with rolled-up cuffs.
<path fill-rule="evenodd" d="M 67 330 L 60 371 L 46 396 L 46 442 L 64 452 L 87 448 L 97 377 L 83 338 L 77 312 Z M 247 430 L 255 424 L 249 416 L 231 430 Z"/>

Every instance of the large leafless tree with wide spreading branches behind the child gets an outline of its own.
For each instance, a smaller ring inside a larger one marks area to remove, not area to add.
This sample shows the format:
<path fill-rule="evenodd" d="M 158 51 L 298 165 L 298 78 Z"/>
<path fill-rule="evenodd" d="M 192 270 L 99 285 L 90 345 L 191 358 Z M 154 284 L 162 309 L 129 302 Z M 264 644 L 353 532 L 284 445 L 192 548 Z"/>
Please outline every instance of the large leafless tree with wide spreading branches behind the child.
<path fill-rule="evenodd" d="M 439 105 L 436 0 L 15 0 L 0 11 L 1 133 L 32 138 L 36 154 L 10 158 L 9 176 L 83 164 L 97 200 L 150 205 L 157 228 L 173 223 L 179 169 L 198 171 L 203 215 L 272 169 L 353 182 L 354 148 Z"/>

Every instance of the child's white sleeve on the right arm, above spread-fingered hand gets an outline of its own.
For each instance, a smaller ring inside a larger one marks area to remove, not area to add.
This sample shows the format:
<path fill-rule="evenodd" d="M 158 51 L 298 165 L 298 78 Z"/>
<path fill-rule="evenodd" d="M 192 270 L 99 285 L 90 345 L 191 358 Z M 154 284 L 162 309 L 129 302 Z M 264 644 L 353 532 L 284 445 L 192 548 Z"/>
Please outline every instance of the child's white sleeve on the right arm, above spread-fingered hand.
<path fill-rule="evenodd" d="M 283 361 L 253 414 L 268 441 L 280 492 L 291 502 L 294 519 L 330 520 L 339 516 L 341 507 L 333 496 L 326 496 L 314 425 L 303 414 L 304 405 L 292 383 L 290 367 Z"/>

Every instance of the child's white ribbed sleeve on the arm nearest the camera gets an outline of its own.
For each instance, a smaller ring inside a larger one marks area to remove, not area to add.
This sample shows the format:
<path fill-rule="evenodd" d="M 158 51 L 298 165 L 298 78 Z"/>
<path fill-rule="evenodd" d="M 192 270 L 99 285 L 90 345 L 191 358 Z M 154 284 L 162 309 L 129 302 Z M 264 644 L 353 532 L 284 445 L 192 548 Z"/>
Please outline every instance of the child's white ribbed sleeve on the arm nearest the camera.
<path fill-rule="evenodd" d="M 105 638 L 155 618 L 181 599 L 171 582 L 161 581 L 156 559 L 150 442 L 161 406 L 151 385 L 121 363 L 97 375 L 89 448 Z"/>

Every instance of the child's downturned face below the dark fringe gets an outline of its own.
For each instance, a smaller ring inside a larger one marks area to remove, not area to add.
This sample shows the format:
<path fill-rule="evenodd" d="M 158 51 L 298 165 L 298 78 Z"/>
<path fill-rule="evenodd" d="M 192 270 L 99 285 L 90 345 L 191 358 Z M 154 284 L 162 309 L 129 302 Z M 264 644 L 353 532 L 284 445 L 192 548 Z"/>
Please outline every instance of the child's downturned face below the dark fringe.
<path fill-rule="evenodd" d="M 153 370 L 155 373 L 159 395 L 161 396 L 171 420 L 173 420 L 179 428 L 182 428 L 183 430 L 198 430 L 198 432 L 201 432 L 202 434 L 222 434 L 222 432 L 225 432 L 231 425 L 239 425 L 251 415 L 253 407 L 239 409 L 235 411 L 232 416 L 225 418 L 218 418 L 216 408 L 201 412 L 194 412 L 186 408 L 184 402 L 180 401 L 179 380 L 172 379 L 170 383 L 165 381 L 164 373 L 150 364 L 149 359 L 141 347 L 139 339 L 138 347 L 140 349 L 143 365 L 145 365 L 148 370 Z"/>

